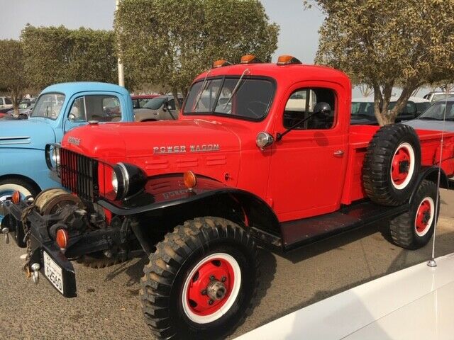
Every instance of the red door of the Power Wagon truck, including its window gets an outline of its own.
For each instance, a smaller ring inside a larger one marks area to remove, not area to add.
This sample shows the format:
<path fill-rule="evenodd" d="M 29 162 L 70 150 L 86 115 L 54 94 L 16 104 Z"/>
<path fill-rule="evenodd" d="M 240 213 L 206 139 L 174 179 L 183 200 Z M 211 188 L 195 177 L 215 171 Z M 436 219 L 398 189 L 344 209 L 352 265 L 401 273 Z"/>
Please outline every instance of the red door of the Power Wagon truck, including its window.
<path fill-rule="evenodd" d="M 340 206 L 350 106 L 338 97 L 336 86 L 294 86 L 276 115 L 276 132 L 306 118 L 272 145 L 267 201 L 282 222 L 333 212 Z M 331 113 L 314 113 L 319 103 L 327 103 Z M 345 111 L 342 116 L 340 111 Z"/>

